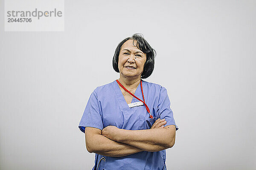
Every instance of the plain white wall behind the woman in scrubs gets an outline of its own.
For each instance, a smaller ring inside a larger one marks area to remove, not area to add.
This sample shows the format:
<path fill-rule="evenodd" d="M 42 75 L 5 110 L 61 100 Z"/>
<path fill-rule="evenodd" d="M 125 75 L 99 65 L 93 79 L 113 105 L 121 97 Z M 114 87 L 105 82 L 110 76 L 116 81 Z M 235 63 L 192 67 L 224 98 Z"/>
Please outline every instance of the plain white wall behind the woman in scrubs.
<path fill-rule="evenodd" d="M 157 51 L 168 90 L 168 170 L 256 170 L 256 1 L 65 1 L 64 32 L 5 32 L 0 0 L 0 169 L 90 170 L 78 124 L 93 89 L 119 78 L 117 44 Z"/>

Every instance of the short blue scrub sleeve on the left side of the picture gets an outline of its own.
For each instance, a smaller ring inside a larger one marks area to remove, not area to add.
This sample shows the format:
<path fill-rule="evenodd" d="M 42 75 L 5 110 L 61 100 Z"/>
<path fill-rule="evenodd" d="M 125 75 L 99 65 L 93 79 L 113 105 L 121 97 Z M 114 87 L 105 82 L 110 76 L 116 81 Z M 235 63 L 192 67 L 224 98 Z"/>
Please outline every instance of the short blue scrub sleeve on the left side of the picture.
<path fill-rule="evenodd" d="M 84 132 L 85 127 L 96 127 L 100 130 L 103 129 L 102 114 L 99 111 L 97 99 L 97 88 L 89 97 L 78 127 L 82 132 Z"/>

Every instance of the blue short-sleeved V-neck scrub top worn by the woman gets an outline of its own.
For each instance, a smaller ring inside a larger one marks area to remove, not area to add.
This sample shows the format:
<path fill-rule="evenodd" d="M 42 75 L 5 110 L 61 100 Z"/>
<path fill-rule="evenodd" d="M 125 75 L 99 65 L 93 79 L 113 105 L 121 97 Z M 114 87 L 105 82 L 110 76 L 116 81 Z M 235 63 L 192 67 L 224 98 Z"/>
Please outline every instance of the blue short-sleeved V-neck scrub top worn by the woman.
<path fill-rule="evenodd" d="M 166 125 L 177 125 L 170 108 L 170 100 L 166 88 L 155 83 L 142 80 L 145 103 L 150 113 L 149 118 L 145 105 L 129 108 L 125 98 L 115 81 L 97 87 L 85 107 L 79 123 L 79 129 L 84 132 L 85 127 L 96 127 L 102 130 L 109 125 L 126 130 L 150 129 L 154 122 L 166 119 Z M 143 100 L 141 87 L 138 85 L 135 96 Z M 133 97 L 131 103 L 139 102 Z M 102 158 L 104 157 L 104 158 Z M 110 157 L 95 154 L 95 165 L 99 163 L 99 170 L 166 170 L 166 150 L 158 152 L 142 151 L 128 156 Z"/>

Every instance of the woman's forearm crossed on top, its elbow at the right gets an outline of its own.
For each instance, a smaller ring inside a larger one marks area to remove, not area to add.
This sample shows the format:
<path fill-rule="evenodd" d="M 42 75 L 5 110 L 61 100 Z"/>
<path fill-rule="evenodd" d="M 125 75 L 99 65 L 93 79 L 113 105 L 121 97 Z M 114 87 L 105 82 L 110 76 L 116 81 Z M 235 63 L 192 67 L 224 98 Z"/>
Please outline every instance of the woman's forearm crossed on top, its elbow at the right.
<path fill-rule="evenodd" d="M 172 147 L 170 143 L 172 143 L 174 134 L 165 128 L 120 130 L 116 141 L 138 147 L 142 150 L 156 152 Z"/>

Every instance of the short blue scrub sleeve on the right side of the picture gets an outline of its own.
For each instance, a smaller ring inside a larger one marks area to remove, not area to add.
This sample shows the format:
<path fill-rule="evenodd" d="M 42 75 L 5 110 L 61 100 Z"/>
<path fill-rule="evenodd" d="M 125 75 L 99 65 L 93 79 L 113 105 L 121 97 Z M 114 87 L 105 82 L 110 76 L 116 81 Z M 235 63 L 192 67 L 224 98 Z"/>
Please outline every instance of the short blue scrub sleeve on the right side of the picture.
<path fill-rule="evenodd" d="M 159 101 L 158 101 L 158 106 L 157 106 L 157 111 L 159 112 L 160 119 L 165 119 L 167 125 L 175 125 L 176 130 L 179 129 L 177 127 L 174 117 L 173 117 L 173 112 L 172 109 L 170 108 L 171 102 L 169 100 L 167 90 L 164 87 L 160 88 L 160 96 L 159 96 Z"/>

